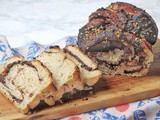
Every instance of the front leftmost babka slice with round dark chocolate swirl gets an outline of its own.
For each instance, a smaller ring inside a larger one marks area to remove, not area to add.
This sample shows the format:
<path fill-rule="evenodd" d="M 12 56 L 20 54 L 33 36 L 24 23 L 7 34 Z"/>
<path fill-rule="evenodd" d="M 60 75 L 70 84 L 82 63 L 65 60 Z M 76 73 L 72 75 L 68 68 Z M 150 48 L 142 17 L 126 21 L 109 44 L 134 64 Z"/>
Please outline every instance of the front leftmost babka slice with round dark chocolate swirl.
<path fill-rule="evenodd" d="M 14 56 L 1 66 L 0 92 L 23 113 L 56 92 L 51 73 L 38 60 Z"/>

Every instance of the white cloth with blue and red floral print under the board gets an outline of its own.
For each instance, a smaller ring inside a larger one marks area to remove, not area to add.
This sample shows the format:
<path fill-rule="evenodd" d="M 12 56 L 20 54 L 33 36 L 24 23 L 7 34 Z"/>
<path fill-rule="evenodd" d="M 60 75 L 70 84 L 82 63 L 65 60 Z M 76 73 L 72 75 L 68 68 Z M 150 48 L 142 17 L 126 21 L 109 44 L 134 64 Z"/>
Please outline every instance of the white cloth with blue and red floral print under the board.
<path fill-rule="evenodd" d="M 65 37 L 51 45 L 59 45 L 63 48 L 68 44 L 76 45 L 77 37 Z M 25 59 L 32 59 L 49 46 L 30 42 L 26 46 L 13 49 L 6 38 L 0 36 L 0 64 L 14 55 L 23 55 Z M 70 116 L 62 120 L 160 120 L 160 96 Z"/>

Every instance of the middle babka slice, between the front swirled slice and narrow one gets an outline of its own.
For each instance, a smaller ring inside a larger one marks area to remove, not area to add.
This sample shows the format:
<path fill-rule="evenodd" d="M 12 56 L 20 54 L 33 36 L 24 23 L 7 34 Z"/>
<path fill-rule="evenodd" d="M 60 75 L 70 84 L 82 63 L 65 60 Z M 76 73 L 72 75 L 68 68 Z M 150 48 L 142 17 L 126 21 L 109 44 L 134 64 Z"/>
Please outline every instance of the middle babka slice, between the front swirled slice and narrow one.
<path fill-rule="evenodd" d="M 59 46 L 50 47 L 36 59 L 51 71 L 57 87 L 56 94 L 48 98 L 48 104 L 52 105 L 52 99 L 55 101 L 61 99 L 64 93 L 73 92 L 74 89 L 83 89 L 83 81 L 80 79 L 78 67 L 66 57 Z"/>

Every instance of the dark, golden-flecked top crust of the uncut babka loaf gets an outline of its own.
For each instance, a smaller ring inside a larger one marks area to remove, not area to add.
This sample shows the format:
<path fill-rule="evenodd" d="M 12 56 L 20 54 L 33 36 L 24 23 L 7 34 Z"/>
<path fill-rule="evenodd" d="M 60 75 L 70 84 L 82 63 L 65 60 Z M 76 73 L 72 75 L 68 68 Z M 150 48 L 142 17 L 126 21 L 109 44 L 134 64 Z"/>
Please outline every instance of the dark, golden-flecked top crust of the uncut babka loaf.
<path fill-rule="evenodd" d="M 107 41 L 121 39 L 126 32 L 153 45 L 158 27 L 144 10 L 129 3 L 116 2 L 89 16 L 89 22 L 79 30 L 78 46 L 83 51 L 106 51 Z M 97 46 L 101 42 L 103 44 Z"/>

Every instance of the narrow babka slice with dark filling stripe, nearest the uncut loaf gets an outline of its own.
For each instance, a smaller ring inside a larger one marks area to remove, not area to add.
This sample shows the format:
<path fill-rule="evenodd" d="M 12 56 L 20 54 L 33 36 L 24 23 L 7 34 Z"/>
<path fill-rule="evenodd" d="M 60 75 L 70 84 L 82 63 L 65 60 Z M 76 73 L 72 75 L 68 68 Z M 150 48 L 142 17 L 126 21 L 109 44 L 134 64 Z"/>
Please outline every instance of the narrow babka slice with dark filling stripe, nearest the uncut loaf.
<path fill-rule="evenodd" d="M 81 79 L 85 85 L 94 86 L 102 75 L 100 70 L 97 70 L 97 63 L 93 62 L 88 56 L 75 45 L 68 45 L 64 49 L 67 57 L 74 61 L 80 69 Z"/>

